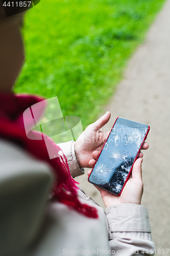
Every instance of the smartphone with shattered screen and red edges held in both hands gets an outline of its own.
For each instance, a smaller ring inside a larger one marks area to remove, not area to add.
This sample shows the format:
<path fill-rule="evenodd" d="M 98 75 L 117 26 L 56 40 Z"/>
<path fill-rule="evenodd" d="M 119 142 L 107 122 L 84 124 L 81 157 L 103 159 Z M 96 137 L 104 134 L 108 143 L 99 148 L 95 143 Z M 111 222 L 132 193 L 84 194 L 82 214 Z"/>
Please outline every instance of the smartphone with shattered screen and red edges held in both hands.
<path fill-rule="evenodd" d="M 120 195 L 132 172 L 150 126 L 118 117 L 88 181 Z"/>

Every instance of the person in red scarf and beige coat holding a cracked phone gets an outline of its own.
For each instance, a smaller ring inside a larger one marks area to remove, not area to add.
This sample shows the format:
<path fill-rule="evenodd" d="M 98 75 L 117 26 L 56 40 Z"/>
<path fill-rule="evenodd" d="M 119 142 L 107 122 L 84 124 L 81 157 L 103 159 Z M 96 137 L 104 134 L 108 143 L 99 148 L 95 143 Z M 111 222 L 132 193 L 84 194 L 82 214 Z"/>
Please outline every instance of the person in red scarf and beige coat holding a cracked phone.
<path fill-rule="evenodd" d="M 100 189 L 106 212 L 70 177 L 93 167 L 107 138 L 100 129 L 109 112 L 76 142 L 60 145 L 67 161 L 48 159 L 43 141 L 31 141 L 24 133 L 23 111 L 42 99 L 12 92 L 25 59 L 22 18 L 6 17 L 0 2 L 0 254 L 153 255 L 148 212 L 140 205 L 142 153 L 119 197 Z M 60 148 L 50 143 L 58 153 Z M 148 147 L 144 143 L 142 149 Z"/>

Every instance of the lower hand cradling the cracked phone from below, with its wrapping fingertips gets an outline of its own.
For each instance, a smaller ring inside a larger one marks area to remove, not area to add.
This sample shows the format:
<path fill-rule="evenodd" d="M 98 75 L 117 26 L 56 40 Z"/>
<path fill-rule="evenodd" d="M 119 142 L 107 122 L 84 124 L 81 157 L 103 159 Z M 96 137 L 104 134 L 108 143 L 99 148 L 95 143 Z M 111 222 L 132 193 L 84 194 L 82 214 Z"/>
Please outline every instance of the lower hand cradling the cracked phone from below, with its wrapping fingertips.
<path fill-rule="evenodd" d="M 143 144 L 144 146 L 144 144 Z M 144 147 L 149 147 L 148 143 L 145 144 Z M 142 153 L 140 154 L 140 156 Z M 97 154 L 95 153 L 95 158 Z M 139 157 L 133 165 L 132 175 L 127 181 L 122 194 L 120 196 L 113 195 L 112 193 L 95 186 L 101 193 L 102 199 L 104 201 L 105 206 L 110 206 L 113 204 L 123 204 L 123 203 L 131 203 L 131 204 L 140 204 L 141 197 L 143 193 L 143 182 L 142 182 L 142 169 L 141 163 L 143 159 Z M 91 171 L 87 173 L 90 175 Z"/>

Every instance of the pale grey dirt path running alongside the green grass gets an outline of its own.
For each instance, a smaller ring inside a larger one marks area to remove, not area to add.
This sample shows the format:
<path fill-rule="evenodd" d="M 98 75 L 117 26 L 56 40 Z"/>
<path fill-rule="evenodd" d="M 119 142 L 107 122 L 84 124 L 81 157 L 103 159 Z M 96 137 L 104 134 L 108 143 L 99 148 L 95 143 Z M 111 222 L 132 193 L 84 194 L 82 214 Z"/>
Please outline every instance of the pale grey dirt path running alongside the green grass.
<path fill-rule="evenodd" d="M 156 248 L 170 248 L 170 0 L 130 60 L 106 110 L 112 115 L 109 129 L 118 116 L 151 126 L 150 148 L 143 158 L 142 205 L 149 211 Z M 86 194 L 104 207 L 87 176 L 77 180 Z"/>

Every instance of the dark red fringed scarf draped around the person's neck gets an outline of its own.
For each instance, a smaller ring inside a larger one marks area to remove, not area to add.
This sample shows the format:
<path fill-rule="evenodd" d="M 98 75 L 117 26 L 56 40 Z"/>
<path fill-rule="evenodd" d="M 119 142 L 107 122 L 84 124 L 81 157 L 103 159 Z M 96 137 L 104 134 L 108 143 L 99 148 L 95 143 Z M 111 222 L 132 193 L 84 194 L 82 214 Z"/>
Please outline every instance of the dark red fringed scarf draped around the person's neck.
<path fill-rule="evenodd" d="M 52 191 L 54 200 L 76 209 L 87 217 L 98 218 L 94 207 L 80 203 L 77 196 L 77 182 L 70 176 L 65 156 L 50 159 L 44 139 L 32 140 L 27 138 L 23 112 L 42 100 L 44 99 L 37 96 L 0 94 L 0 137 L 18 144 L 37 159 L 43 160 L 53 167 L 57 177 Z M 38 132 L 31 131 L 30 133 L 32 137 L 36 137 Z M 50 143 L 52 152 L 57 156 L 60 151 L 59 146 L 51 138 L 48 138 L 47 143 Z"/>

